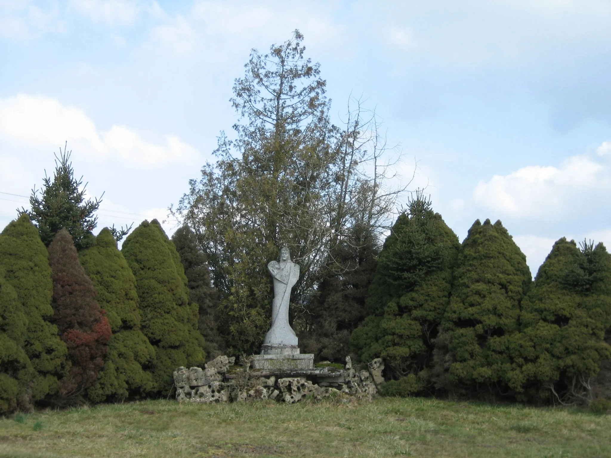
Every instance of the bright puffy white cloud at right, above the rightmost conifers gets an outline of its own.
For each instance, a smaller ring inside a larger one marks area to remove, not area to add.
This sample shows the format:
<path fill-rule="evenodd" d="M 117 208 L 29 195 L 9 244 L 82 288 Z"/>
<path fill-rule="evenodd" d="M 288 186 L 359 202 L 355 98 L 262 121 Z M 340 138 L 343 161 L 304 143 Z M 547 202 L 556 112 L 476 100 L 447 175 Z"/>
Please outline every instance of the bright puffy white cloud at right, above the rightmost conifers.
<path fill-rule="evenodd" d="M 475 188 L 474 201 L 500 215 L 546 217 L 583 198 L 584 192 L 609 188 L 610 178 L 604 162 L 573 156 L 560 167 L 529 165 L 482 180 Z"/>

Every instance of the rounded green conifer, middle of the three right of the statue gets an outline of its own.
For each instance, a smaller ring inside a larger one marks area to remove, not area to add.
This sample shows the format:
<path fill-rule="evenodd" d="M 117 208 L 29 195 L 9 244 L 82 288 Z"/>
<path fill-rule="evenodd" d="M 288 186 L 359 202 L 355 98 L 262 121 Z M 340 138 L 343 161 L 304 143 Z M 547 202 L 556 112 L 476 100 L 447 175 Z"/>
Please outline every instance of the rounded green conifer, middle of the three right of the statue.
<path fill-rule="evenodd" d="M 501 222 L 476 220 L 458 256 L 445 333 L 436 340 L 439 387 L 474 396 L 497 396 L 507 387 L 507 340 L 518 330 L 531 282 L 526 257 Z"/>

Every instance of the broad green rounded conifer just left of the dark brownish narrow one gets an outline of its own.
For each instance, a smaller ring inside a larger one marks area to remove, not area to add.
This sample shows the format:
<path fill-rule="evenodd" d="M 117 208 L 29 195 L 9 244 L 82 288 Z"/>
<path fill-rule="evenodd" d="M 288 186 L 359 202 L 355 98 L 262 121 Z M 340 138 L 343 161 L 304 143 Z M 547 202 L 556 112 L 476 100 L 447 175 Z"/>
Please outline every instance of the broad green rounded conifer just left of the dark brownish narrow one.
<path fill-rule="evenodd" d="M 136 278 L 142 332 L 155 347 L 156 391 L 167 394 L 178 366 L 201 366 L 204 340 L 197 331 L 197 304 L 189 304 L 180 255 L 157 220 L 144 221 L 123 242 L 123 256 Z"/>

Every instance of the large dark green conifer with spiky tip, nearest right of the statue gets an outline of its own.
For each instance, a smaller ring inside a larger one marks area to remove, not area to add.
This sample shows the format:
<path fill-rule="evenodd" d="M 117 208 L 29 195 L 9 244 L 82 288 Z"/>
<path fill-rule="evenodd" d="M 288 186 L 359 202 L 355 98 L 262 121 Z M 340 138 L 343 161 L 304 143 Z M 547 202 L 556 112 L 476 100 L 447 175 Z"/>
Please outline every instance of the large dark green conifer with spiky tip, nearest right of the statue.
<path fill-rule="evenodd" d="M 369 316 L 351 338 L 361 360 L 384 358 L 390 375 L 408 376 L 406 386 L 416 391 L 428 383 L 458 249 L 456 234 L 417 194 L 384 243 L 367 299 Z"/>

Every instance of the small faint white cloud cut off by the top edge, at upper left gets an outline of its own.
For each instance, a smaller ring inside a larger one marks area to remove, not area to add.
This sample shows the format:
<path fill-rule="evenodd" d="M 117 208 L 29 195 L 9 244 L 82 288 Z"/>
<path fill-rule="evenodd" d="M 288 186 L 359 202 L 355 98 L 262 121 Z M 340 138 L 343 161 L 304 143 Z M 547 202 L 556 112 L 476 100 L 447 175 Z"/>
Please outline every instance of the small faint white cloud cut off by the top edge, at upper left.
<path fill-rule="evenodd" d="M 70 3 L 76 12 L 107 26 L 133 24 L 142 9 L 139 2 L 128 0 L 72 0 Z"/>

